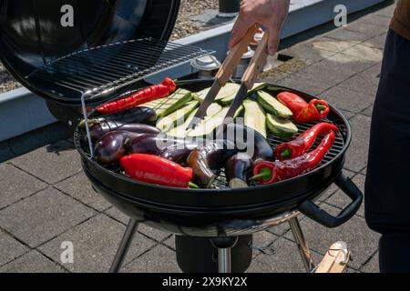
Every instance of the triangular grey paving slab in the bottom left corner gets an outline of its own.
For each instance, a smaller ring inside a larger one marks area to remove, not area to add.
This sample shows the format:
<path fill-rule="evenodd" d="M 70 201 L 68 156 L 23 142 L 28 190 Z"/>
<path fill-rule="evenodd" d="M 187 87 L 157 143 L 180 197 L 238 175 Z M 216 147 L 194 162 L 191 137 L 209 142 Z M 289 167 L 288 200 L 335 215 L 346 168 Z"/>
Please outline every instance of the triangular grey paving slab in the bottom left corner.
<path fill-rule="evenodd" d="M 36 250 L 0 268 L 0 273 L 65 273 L 66 270 Z"/>

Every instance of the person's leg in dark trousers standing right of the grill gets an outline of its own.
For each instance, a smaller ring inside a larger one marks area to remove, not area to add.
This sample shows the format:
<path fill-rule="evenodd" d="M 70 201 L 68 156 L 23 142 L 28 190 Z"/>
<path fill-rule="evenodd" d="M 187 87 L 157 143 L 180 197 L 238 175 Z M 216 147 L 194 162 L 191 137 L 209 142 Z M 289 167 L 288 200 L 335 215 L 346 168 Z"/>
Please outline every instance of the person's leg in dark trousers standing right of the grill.
<path fill-rule="evenodd" d="M 366 222 L 383 236 L 380 259 L 388 272 L 392 250 L 410 249 L 408 240 L 388 235 L 410 236 L 410 41 L 393 31 L 374 103 L 364 196 Z M 410 269 L 406 262 L 403 270 Z"/>

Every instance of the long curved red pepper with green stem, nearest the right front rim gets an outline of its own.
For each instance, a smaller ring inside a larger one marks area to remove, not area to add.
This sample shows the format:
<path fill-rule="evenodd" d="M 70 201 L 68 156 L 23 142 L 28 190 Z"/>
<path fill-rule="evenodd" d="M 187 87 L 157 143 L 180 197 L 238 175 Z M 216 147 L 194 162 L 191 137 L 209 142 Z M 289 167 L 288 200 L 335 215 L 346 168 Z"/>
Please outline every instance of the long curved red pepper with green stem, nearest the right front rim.
<path fill-rule="evenodd" d="M 274 182 L 286 180 L 295 176 L 301 176 L 304 173 L 312 171 L 318 166 L 323 157 L 333 146 L 336 135 L 330 132 L 324 136 L 322 143 L 313 151 L 297 156 L 291 160 L 268 162 L 257 162 L 253 166 L 253 175 L 251 180 L 256 180 L 262 185 L 272 184 Z"/>

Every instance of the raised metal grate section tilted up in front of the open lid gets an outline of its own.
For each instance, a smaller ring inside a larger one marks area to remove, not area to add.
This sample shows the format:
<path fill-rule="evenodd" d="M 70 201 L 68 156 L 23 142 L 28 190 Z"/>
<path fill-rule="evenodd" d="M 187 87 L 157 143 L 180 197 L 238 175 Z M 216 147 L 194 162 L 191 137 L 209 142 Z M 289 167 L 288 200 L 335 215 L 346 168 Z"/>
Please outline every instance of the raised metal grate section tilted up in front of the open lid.
<path fill-rule="evenodd" d="M 92 99 L 213 53 L 152 38 L 129 40 L 60 57 L 36 68 L 26 81 L 47 88 L 60 98 L 85 95 Z"/>

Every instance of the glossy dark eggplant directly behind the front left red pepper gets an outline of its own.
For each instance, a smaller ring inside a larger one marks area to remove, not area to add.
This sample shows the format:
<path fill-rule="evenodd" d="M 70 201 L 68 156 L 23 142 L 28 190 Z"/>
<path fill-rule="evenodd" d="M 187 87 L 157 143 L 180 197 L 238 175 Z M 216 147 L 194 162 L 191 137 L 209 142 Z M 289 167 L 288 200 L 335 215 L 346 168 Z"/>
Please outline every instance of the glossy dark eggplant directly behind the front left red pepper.
<path fill-rule="evenodd" d="M 130 154 L 162 156 L 176 163 L 184 162 L 199 142 L 167 135 L 145 134 L 134 138 L 129 146 Z"/>

